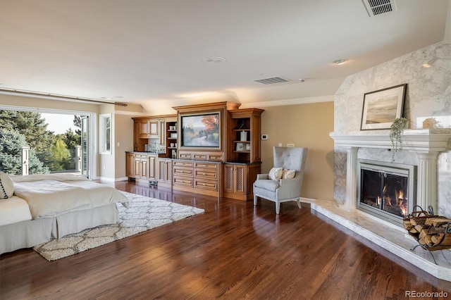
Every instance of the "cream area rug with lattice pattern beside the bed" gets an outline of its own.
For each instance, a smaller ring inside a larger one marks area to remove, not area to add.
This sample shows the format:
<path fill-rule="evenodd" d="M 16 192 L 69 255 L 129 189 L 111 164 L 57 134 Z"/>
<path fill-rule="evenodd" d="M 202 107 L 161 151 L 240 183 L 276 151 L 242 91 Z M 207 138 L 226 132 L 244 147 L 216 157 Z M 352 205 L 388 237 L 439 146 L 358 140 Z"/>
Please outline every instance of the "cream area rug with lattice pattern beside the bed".
<path fill-rule="evenodd" d="M 49 242 L 34 246 L 33 249 L 47 261 L 56 261 L 204 212 L 202 208 L 128 192 L 123 192 L 123 194 L 130 200 L 129 208 L 125 208 L 121 204 L 118 205 L 118 223 L 90 228 L 79 233 L 66 235 L 61 239 L 52 239 Z"/>

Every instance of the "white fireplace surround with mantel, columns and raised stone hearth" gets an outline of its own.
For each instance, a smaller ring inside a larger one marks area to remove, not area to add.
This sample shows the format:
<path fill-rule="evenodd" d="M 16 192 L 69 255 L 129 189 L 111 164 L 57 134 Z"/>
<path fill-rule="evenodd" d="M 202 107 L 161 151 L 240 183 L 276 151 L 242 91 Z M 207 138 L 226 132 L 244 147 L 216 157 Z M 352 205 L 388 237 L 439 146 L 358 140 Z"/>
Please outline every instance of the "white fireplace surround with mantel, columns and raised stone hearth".
<path fill-rule="evenodd" d="M 438 265 L 428 251 L 417 247 L 407 232 L 395 225 L 356 210 L 357 204 L 357 152 L 361 148 L 391 149 L 388 132 L 360 131 L 345 134 L 330 133 L 335 146 L 347 149 L 346 199 L 340 205 L 333 201 L 316 200 L 311 208 L 369 239 L 383 249 L 425 270 L 439 279 L 451 281 L 451 251 L 433 252 Z M 418 159 L 416 204 L 422 208 L 437 207 L 437 158 L 451 146 L 451 129 L 404 130 L 403 151 L 416 154 Z"/>

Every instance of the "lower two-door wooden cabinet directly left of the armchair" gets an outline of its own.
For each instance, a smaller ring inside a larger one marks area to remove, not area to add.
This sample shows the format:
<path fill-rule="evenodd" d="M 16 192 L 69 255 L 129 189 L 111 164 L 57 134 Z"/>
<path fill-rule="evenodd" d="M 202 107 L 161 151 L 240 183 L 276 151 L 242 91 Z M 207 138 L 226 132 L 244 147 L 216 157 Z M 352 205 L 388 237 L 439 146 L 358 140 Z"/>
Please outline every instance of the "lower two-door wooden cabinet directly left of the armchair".
<path fill-rule="evenodd" d="M 224 164 L 223 196 L 237 200 L 250 200 L 254 197 L 252 185 L 261 172 L 259 163 Z"/>

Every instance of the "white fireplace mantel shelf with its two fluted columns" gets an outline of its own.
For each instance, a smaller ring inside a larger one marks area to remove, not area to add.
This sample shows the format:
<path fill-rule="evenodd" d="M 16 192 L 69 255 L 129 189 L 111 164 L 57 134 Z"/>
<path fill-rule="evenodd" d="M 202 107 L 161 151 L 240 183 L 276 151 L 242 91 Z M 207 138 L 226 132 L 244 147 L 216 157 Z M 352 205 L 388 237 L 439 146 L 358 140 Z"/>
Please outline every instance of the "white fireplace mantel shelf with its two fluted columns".
<path fill-rule="evenodd" d="M 359 148 L 391 149 L 390 130 L 365 130 L 359 132 L 330 132 L 335 146 L 347 149 L 346 199 L 343 208 L 354 211 L 357 201 L 357 151 Z M 423 208 L 432 206 L 437 211 L 437 157 L 451 149 L 451 129 L 404 130 L 404 150 L 416 154 L 418 181 L 416 204 Z"/>

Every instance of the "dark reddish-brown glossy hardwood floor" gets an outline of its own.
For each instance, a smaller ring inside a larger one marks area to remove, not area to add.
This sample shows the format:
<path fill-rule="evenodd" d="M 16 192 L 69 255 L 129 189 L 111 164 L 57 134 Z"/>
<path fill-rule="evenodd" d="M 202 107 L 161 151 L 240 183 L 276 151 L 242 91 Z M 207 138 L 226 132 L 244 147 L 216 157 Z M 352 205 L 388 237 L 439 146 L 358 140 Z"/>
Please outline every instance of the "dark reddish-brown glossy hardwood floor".
<path fill-rule="evenodd" d="M 308 204 L 301 211 L 282 204 L 276 215 L 270 201 L 254 208 L 251 201 L 115 185 L 205 213 L 58 261 L 32 249 L 3 254 L 0 299 L 406 299 L 406 291 L 444 291 L 451 299 L 451 282 Z"/>

